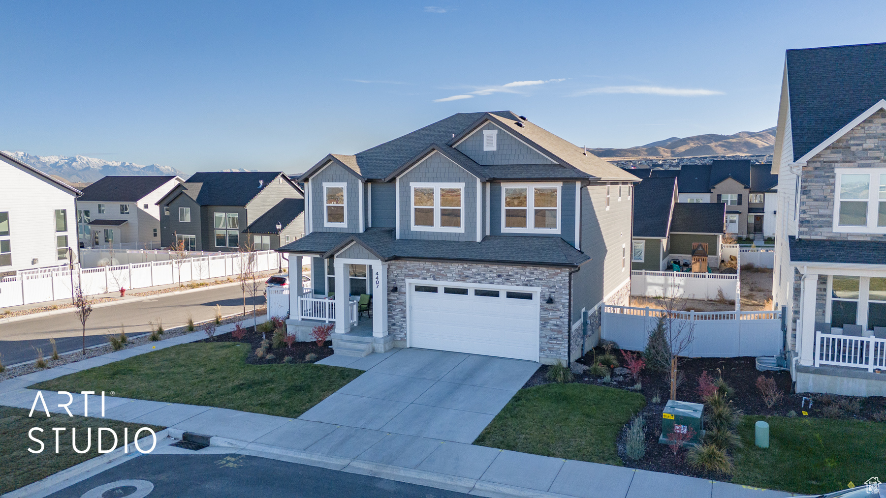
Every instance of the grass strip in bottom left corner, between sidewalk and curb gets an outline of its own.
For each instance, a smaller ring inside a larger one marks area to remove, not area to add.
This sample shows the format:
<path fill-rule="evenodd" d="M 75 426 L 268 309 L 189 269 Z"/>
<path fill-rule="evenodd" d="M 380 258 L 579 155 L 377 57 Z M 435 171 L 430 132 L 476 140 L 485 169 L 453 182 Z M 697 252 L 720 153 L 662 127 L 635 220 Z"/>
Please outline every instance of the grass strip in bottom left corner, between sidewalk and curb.
<path fill-rule="evenodd" d="M 117 448 L 123 444 L 123 427 L 129 428 L 129 442 L 132 442 L 131 438 L 141 427 L 151 427 L 154 432 L 163 429 L 163 427 L 156 425 L 127 424 L 107 418 L 76 415 L 74 418 L 67 415 L 64 417 L 53 415 L 51 418 L 46 418 L 46 414 L 40 410 L 35 410 L 34 417 L 28 418 L 28 411 L 30 410 L 0 406 L 0 448 L 3 448 L 4 456 L 4 464 L 0 465 L 0 494 L 27 486 L 72 465 L 98 456 L 97 427 L 108 427 L 117 433 L 119 443 Z M 27 433 L 32 427 L 43 429 L 43 433 L 34 432 L 34 437 L 43 441 L 45 445 L 43 452 L 39 454 L 27 451 L 27 448 L 40 449 L 40 444 L 27 437 Z M 55 452 L 55 433 L 52 431 L 52 427 L 66 428 L 66 431 L 59 433 L 58 454 Z M 92 427 L 92 444 L 89 447 L 89 452 L 81 455 L 75 453 L 71 448 L 71 429 L 77 429 L 77 448 L 82 450 L 86 447 L 87 427 Z M 142 437 L 146 435 L 144 432 L 140 434 Z M 113 436 L 106 432 L 102 434 L 102 445 L 105 449 L 112 442 Z M 150 447 L 150 442 L 146 446 L 144 443 L 142 444 L 142 448 L 145 450 Z"/>

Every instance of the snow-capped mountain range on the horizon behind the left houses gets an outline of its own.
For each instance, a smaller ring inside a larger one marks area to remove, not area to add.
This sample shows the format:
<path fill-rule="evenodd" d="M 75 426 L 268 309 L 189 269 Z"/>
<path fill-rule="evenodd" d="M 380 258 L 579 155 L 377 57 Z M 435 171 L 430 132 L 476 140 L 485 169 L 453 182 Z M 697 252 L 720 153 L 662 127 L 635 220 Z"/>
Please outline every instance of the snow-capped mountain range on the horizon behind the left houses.
<path fill-rule="evenodd" d="M 31 156 L 26 152 L 4 153 L 15 157 L 26 165 L 32 165 L 38 170 L 60 176 L 70 181 L 90 182 L 96 181 L 108 175 L 115 176 L 148 176 L 177 174 L 186 178 L 187 174 L 180 172 L 171 166 L 161 165 L 136 165 L 120 161 L 105 161 L 95 157 L 85 156 Z"/>

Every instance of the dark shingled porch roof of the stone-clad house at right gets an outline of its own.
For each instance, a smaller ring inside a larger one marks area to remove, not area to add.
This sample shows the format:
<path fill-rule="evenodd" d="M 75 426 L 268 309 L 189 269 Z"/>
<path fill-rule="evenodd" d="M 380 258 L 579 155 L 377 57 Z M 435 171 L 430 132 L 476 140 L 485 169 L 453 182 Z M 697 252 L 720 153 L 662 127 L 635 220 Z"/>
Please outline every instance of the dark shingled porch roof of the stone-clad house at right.
<path fill-rule="evenodd" d="M 886 241 L 810 240 L 791 235 L 788 244 L 791 261 L 886 264 Z"/>

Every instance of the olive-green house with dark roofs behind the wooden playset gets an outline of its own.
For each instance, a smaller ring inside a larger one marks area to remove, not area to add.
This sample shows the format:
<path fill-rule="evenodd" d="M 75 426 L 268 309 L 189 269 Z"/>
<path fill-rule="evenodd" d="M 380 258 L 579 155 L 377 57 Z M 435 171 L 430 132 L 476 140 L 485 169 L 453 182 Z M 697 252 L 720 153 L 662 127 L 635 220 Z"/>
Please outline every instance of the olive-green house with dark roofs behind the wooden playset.
<path fill-rule="evenodd" d="M 719 266 L 725 205 L 678 203 L 674 177 L 642 180 L 633 202 L 633 270 L 670 270 L 673 260 L 682 266 L 693 256 L 707 257 L 708 267 Z"/>

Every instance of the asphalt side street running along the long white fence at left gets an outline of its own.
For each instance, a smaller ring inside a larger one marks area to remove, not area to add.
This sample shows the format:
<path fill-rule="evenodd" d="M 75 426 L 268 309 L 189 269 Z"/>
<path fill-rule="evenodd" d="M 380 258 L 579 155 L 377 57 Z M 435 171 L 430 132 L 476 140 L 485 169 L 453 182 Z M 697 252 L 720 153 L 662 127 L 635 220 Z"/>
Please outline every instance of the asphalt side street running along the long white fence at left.
<path fill-rule="evenodd" d="M 263 288 L 264 283 L 261 285 Z M 253 298 L 247 295 L 247 310 L 252 303 Z M 255 303 L 264 304 L 265 297 L 258 295 Z M 222 315 L 241 312 L 243 291 L 239 286 L 208 287 L 186 294 L 160 294 L 145 301 L 96 308 L 86 322 L 86 345 L 106 342 L 105 336 L 108 333 L 118 333 L 121 325 L 125 327 L 129 337 L 135 337 L 151 332 L 148 322 L 157 324 L 159 321 L 164 328 L 172 328 L 188 323 L 189 314 L 194 321 L 207 320 L 215 316 L 216 304 L 221 306 Z M 44 357 L 51 356 L 51 337 L 55 338 L 59 353 L 82 348 L 82 326 L 76 313 L 0 324 L 0 355 L 3 355 L 3 364 L 33 360 L 36 348 L 43 349 Z"/>

